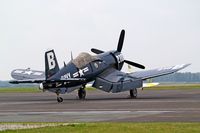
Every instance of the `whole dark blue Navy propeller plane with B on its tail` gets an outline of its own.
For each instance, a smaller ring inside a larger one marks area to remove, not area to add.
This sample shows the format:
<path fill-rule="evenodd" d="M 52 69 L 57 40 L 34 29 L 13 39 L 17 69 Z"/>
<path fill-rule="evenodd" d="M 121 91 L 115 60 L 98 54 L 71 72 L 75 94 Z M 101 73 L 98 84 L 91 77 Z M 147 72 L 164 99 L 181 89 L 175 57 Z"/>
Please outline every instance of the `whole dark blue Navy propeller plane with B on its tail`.
<path fill-rule="evenodd" d="M 120 71 L 127 63 L 131 66 L 145 69 L 141 64 L 125 60 L 121 53 L 124 42 L 125 31 L 122 30 L 117 50 L 104 52 L 92 48 L 96 55 L 81 53 L 63 68 L 59 68 L 54 50 L 45 53 L 45 72 L 16 69 L 11 76 L 15 79 L 10 83 L 38 83 L 39 88 L 57 94 L 57 101 L 62 102 L 59 94 L 70 93 L 78 90 L 79 99 L 85 99 L 85 86 L 93 82 L 92 87 L 105 92 L 129 91 L 132 98 L 137 97 L 137 89 L 143 87 L 143 81 L 162 75 L 177 72 L 190 64 L 176 65 L 159 69 L 124 73 Z"/>

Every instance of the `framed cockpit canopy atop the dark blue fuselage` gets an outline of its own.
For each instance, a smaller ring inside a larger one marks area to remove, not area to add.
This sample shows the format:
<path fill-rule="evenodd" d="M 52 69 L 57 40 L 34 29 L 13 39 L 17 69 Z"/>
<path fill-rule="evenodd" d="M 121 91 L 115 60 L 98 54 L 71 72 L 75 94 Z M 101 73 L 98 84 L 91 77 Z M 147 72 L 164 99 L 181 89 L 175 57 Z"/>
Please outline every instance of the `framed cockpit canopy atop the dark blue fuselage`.
<path fill-rule="evenodd" d="M 77 68 L 82 68 L 83 66 L 95 60 L 98 60 L 96 56 L 92 56 L 89 53 L 82 52 L 74 60 L 72 60 L 72 63 L 74 63 Z"/>

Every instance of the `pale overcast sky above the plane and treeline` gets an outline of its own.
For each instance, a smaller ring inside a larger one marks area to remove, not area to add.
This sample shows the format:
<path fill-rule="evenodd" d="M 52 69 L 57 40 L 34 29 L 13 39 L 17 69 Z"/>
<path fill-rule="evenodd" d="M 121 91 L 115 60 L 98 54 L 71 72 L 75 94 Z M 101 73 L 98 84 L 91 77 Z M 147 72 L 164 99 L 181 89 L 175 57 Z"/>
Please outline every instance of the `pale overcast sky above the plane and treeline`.
<path fill-rule="evenodd" d="M 44 70 L 47 49 L 60 66 L 71 51 L 116 49 L 121 29 L 125 59 L 200 72 L 199 0 L 0 0 L 0 80 L 15 68 Z"/>

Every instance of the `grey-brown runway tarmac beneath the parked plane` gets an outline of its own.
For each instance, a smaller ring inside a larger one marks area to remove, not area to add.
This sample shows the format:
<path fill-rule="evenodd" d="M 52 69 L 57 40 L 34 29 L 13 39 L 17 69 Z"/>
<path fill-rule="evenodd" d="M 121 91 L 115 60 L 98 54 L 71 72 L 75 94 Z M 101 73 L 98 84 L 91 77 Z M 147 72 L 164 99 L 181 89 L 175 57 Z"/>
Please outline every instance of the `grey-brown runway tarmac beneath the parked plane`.
<path fill-rule="evenodd" d="M 200 122 L 200 89 L 144 90 L 137 99 L 129 92 L 112 94 L 87 91 L 86 100 L 77 92 L 1 93 L 0 122 Z"/>

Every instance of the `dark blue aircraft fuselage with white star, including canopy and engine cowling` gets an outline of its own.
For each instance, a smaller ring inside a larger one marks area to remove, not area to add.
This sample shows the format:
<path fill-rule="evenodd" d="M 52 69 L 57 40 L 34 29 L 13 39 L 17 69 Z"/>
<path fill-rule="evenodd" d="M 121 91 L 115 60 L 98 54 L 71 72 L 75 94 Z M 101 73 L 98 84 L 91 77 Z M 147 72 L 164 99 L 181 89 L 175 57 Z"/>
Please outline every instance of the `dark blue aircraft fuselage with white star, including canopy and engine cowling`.
<path fill-rule="evenodd" d="M 105 70 L 114 67 L 121 70 L 123 65 L 123 56 L 119 52 L 109 51 L 96 56 L 88 53 L 81 53 L 77 58 L 71 60 L 58 73 L 50 77 L 50 80 L 59 80 L 67 78 L 84 78 L 85 83 L 68 83 L 68 84 L 46 84 L 45 88 L 69 88 L 85 85 Z M 44 88 L 44 89 L 45 89 Z"/>

